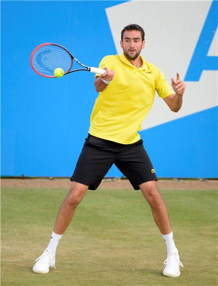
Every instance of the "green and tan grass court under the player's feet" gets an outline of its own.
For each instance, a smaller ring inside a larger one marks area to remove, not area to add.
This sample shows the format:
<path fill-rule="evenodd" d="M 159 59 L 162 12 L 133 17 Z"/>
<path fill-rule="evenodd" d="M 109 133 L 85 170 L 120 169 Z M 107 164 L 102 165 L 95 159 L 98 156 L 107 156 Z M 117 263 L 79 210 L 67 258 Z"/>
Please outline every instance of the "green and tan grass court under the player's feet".
<path fill-rule="evenodd" d="M 162 275 L 166 248 L 150 208 L 134 190 L 89 191 L 56 255 L 56 269 L 32 272 L 67 190 L 2 188 L 1 286 L 206 286 L 218 284 L 217 192 L 161 191 L 184 265 Z"/>

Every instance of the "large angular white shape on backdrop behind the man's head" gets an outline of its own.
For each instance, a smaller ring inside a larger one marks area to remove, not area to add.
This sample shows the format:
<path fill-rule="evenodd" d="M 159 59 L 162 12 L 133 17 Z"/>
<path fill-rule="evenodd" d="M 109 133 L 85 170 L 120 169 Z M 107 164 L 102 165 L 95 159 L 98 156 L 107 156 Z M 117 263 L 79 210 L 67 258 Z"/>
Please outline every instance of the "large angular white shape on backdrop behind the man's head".
<path fill-rule="evenodd" d="M 136 23 L 145 30 L 142 55 L 156 65 L 171 85 L 171 77 L 187 72 L 212 1 L 129 1 L 106 9 L 118 54 L 120 32 Z M 208 55 L 217 56 L 217 32 Z M 182 109 L 170 112 L 158 96 L 143 122 L 143 130 L 218 105 L 217 71 L 203 71 L 199 81 L 186 81 Z"/>

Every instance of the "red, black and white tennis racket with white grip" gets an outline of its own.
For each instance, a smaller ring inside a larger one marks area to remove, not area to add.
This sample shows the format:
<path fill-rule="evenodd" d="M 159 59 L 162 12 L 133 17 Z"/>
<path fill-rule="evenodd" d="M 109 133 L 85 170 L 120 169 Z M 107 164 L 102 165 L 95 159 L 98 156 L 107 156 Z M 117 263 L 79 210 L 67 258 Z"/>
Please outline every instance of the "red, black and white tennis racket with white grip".
<path fill-rule="evenodd" d="M 73 67 L 73 60 L 78 63 L 83 69 L 71 70 Z M 87 71 L 103 74 L 105 70 L 87 67 L 81 64 L 65 47 L 54 44 L 44 43 L 37 46 L 31 55 L 31 66 L 33 70 L 45 77 L 56 77 L 54 70 L 61 68 L 64 75 L 71 72 Z"/>

